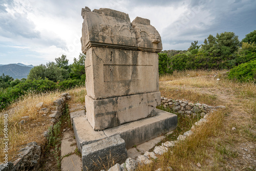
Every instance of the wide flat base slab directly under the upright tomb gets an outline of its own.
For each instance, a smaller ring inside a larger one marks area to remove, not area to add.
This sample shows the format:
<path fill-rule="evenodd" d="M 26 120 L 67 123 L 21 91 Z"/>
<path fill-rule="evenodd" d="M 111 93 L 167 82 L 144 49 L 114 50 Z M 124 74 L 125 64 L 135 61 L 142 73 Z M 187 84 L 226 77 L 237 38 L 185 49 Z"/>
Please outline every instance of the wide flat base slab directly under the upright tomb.
<path fill-rule="evenodd" d="M 95 131 L 86 117 L 73 118 L 73 127 L 79 152 L 82 146 L 99 140 L 120 135 L 126 148 L 138 145 L 156 138 L 162 133 L 174 130 L 177 126 L 177 115 L 156 109 L 156 116 L 130 123 L 125 123 L 111 129 Z"/>

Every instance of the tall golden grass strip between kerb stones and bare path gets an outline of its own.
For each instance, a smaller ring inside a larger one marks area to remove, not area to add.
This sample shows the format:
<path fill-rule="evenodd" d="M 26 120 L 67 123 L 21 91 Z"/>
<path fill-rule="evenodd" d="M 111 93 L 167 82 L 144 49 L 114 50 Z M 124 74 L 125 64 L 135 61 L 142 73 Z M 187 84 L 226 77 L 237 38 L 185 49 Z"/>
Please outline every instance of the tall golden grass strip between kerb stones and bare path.
<path fill-rule="evenodd" d="M 138 170 L 168 170 L 168 166 L 175 170 L 195 170 L 198 162 L 203 163 L 210 158 L 207 152 L 208 138 L 219 136 L 225 113 L 226 111 L 212 113 L 207 123 L 196 127 L 193 135 L 169 148 L 168 152 L 159 156 L 153 164 L 143 165 Z"/>

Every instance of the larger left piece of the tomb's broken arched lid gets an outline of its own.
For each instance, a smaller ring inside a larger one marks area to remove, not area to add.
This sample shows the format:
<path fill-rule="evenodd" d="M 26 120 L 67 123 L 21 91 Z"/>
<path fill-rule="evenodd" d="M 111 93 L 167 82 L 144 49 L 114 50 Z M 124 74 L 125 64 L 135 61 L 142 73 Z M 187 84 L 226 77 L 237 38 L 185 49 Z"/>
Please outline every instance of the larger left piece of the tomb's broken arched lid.
<path fill-rule="evenodd" d="M 82 9 L 82 52 L 91 47 L 137 50 L 136 36 L 128 14 L 107 8 Z"/>

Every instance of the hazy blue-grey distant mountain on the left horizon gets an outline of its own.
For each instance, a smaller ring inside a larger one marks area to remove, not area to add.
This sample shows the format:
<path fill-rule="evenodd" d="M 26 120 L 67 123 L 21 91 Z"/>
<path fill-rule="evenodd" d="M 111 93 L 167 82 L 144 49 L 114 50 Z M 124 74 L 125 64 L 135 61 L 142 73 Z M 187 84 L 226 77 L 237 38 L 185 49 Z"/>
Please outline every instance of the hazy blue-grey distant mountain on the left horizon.
<path fill-rule="evenodd" d="M 29 71 L 33 67 L 34 66 L 32 65 L 26 66 L 22 63 L 11 63 L 7 65 L 0 65 L 0 75 L 4 73 L 5 75 L 10 75 L 14 79 L 27 78 Z"/>

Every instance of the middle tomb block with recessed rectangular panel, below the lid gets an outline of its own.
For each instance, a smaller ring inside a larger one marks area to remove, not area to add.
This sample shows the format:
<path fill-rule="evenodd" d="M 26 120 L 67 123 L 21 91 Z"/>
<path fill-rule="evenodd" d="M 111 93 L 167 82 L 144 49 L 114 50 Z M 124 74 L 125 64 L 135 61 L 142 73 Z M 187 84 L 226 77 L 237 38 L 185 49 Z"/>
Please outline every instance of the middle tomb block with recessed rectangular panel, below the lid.
<path fill-rule="evenodd" d="M 86 55 L 87 95 L 103 99 L 159 91 L 158 54 L 90 48 Z"/>

